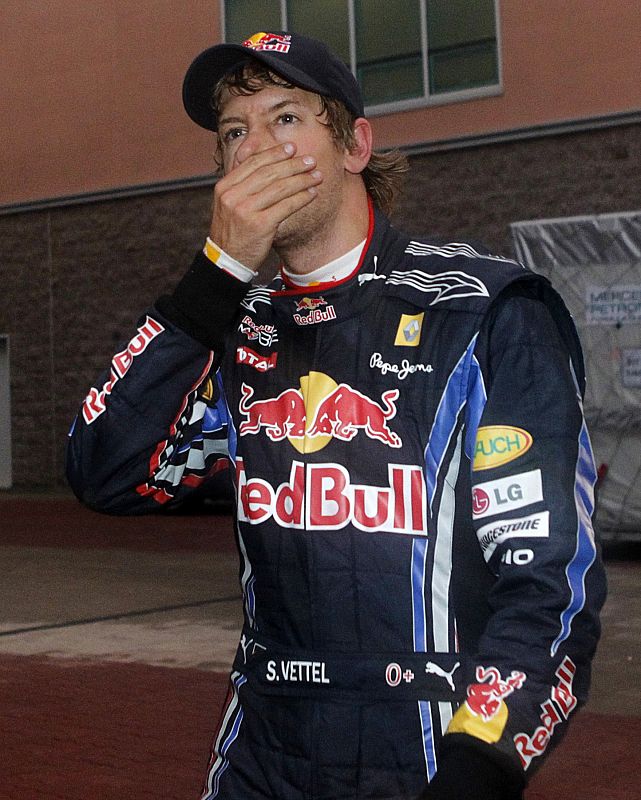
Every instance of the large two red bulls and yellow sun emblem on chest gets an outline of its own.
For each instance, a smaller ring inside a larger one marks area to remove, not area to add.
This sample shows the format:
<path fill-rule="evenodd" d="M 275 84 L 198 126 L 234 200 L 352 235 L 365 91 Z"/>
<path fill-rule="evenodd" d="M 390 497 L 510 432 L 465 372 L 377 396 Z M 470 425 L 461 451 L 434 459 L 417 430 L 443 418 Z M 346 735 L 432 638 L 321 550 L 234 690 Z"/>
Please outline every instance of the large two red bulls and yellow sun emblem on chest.
<path fill-rule="evenodd" d="M 287 439 L 299 453 L 322 450 L 333 438 L 351 442 L 359 431 L 388 447 L 402 446 L 388 424 L 396 416 L 398 389 L 383 392 L 379 404 L 347 383 L 310 372 L 300 379 L 300 389 L 284 389 L 277 397 L 253 399 L 254 389 L 246 383 L 241 394 L 240 436 L 264 431 L 273 442 Z"/>

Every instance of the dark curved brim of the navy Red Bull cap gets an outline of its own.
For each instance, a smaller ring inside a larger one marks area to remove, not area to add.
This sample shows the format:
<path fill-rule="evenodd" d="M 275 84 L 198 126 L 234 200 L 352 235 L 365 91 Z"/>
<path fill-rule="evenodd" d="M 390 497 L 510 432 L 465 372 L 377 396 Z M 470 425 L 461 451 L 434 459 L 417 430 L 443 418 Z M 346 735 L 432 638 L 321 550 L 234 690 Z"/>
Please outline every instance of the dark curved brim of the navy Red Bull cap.
<path fill-rule="evenodd" d="M 310 92 L 327 94 L 308 75 L 291 64 L 278 59 L 278 56 L 260 51 L 252 51 L 239 44 L 218 44 L 203 51 L 192 62 L 183 82 L 183 103 L 185 110 L 200 125 L 210 131 L 218 130 L 218 120 L 214 113 L 212 94 L 218 81 L 238 64 L 249 59 L 261 61 L 291 81 Z"/>

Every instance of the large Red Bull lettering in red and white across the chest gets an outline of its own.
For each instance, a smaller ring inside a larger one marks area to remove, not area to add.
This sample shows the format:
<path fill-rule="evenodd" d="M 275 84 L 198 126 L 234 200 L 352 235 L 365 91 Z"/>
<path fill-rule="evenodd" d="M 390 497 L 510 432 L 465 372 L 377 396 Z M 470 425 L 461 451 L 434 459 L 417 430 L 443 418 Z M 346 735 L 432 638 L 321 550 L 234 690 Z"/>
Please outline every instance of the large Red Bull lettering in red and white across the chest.
<path fill-rule="evenodd" d="M 242 458 L 236 461 L 238 519 L 259 525 L 274 519 L 281 527 L 425 535 L 426 488 L 423 470 L 389 464 L 387 486 L 355 484 L 340 464 L 293 461 L 289 481 L 272 486 L 251 478 Z"/>

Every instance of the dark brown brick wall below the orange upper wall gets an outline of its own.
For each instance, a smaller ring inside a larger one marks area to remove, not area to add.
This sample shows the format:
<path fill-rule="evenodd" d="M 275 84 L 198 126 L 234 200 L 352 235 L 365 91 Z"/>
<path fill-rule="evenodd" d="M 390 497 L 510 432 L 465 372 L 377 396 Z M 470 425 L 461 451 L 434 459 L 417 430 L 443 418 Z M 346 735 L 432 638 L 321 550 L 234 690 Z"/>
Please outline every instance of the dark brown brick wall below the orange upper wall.
<path fill-rule="evenodd" d="M 414 156 L 394 222 L 509 254 L 510 222 L 640 208 L 640 163 L 639 125 Z M 190 189 L 0 217 L 14 486 L 64 484 L 74 414 L 201 245 L 210 195 Z"/>

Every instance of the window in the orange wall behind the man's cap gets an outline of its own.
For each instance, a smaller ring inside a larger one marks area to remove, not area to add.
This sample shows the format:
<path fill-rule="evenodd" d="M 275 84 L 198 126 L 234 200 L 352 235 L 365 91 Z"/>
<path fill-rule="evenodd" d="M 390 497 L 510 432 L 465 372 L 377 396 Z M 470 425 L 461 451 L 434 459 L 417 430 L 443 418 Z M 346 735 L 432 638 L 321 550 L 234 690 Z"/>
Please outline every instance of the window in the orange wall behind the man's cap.
<path fill-rule="evenodd" d="M 498 0 L 225 0 L 225 41 L 291 30 L 351 66 L 369 114 L 496 94 Z"/>

